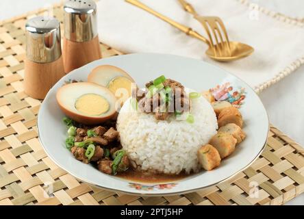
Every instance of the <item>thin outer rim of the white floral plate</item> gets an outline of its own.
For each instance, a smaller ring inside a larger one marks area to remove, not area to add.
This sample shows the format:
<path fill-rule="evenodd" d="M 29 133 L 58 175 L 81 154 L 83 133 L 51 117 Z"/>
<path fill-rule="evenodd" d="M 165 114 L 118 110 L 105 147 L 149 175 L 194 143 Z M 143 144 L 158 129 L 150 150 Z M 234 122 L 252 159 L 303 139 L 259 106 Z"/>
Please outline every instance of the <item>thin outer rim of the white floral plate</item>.
<path fill-rule="evenodd" d="M 189 60 L 197 60 L 197 59 L 194 59 L 194 58 L 191 58 L 191 57 L 186 57 L 186 56 L 183 56 L 183 55 L 172 55 L 172 54 L 167 54 L 167 53 L 131 53 L 131 54 L 123 54 L 122 56 L 125 56 L 125 55 L 128 55 L 128 56 L 131 56 L 131 55 L 167 55 L 167 56 L 173 56 L 173 57 L 181 57 L 181 58 L 184 58 L 184 59 L 189 59 Z M 118 56 L 121 56 L 121 55 L 118 55 Z M 99 62 L 100 60 L 105 60 L 105 59 L 108 59 L 108 58 L 111 58 L 113 56 L 110 56 L 110 57 L 104 57 L 104 58 L 101 58 L 99 60 L 95 60 L 93 62 Z M 114 56 L 116 57 L 116 56 Z M 252 90 L 252 92 L 257 96 L 257 98 L 259 99 L 259 101 L 262 103 L 262 107 L 264 109 L 264 112 L 266 113 L 266 118 L 268 120 L 268 127 L 267 127 L 267 130 L 268 130 L 268 133 L 270 131 L 270 120 L 269 120 L 269 116 L 268 116 L 268 112 L 266 111 L 266 108 L 262 102 L 262 100 L 260 99 L 259 95 L 255 92 L 255 90 L 253 90 L 253 88 L 251 86 L 249 86 L 248 83 L 246 83 L 246 81 L 240 79 L 240 77 L 236 76 L 236 75 L 233 75 L 232 73 L 229 73 L 227 70 L 221 68 L 220 66 L 216 66 L 215 64 L 211 64 L 209 62 L 205 62 L 204 60 L 197 60 L 199 62 L 203 62 L 205 64 L 208 64 L 210 66 L 213 66 L 214 68 L 220 68 L 221 70 L 223 70 L 225 73 L 227 73 L 228 75 L 231 75 L 232 77 L 236 77 L 236 79 L 238 79 L 239 81 L 242 81 L 242 83 L 246 84 L 246 86 L 249 87 L 249 89 Z M 92 64 L 92 62 L 84 65 L 84 66 L 87 66 L 87 65 L 90 65 Z M 84 68 L 84 66 L 81 66 L 80 68 Z M 64 75 L 64 77 L 62 77 L 61 79 L 64 79 L 65 77 L 68 77 L 68 75 L 70 75 L 71 73 L 73 73 L 75 70 L 78 70 L 79 68 L 76 68 L 74 70 L 72 70 L 70 73 L 67 73 L 66 75 Z M 61 80 L 60 79 L 60 80 Z M 56 82 L 58 83 L 58 82 Z M 55 83 L 55 84 L 56 84 Z M 55 86 L 55 85 L 54 85 Z M 54 87 L 53 86 L 53 87 Z M 52 87 L 52 88 L 53 88 Z M 51 88 L 51 89 L 52 89 Z M 45 99 L 47 99 L 47 96 L 50 95 L 50 91 L 51 89 L 49 90 L 49 92 L 47 92 L 47 95 L 45 96 Z M 43 104 L 43 101 L 42 101 L 42 104 Z M 41 105 L 42 105 L 41 104 Z M 40 111 L 39 111 L 40 112 Z M 190 192 L 196 192 L 198 190 L 203 190 L 204 188 L 208 188 L 208 187 L 211 187 L 211 186 L 214 186 L 214 185 L 217 185 L 218 183 L 223 183 L 225 181 L 228 181 L 229 179 L 235 177 L 236 175 L 238 175 L 240 172 L 242 172 L 243 170 L 245 170 L 246 168 L 249 168 L 249 166 L 251 166 L 251 164 L 253 164 L 258 158 L 259 156 L 263 153 L 264 149 L 266 148 L 266 144 L 267 144 L 267 140 L 268 140 L 268 133 L 267 133 L 267 137 L 266 137 L 266 140 L 264 142 L 264 146 L 262 146 L 261 150 L 259 151 L 259 153 L 257 154 L 256 157 L 254 157 L 251 162 L 249 164 L 247 164 L 246 166 L 244 166 L 243 168 L 241 168 L 240 170 L 238 170 L 237 172 L 233 173 L 233 175 L 225 178 L 225 179 L 222 179 L 220 181 L 217 181 L 215 183 L 212 183 L 210 185 L 205 185 L 205 186 L 202 186 L 200 188 L 194 188 L 194 189 L 189 189 L 189 190 L 183 190 L 181 192 L 170 192 L 170 190 L 166 190 L 168 192 L 162 192 L 162 193 L 157 193 L 157 194 L 153 194 L 153 193 L 147 193 L 147 192 L 139 192 L 139 191 L 142 191 L 142 190 L 136 190 L 138 192 L 127 192 L 125 190 L 119 190 L 119 189 L 112 189 L 112 188 L 106 188 L 106 187 L 103 187 L 101 185 L 97 185 L 95 183 L 92 183 L 90 181 L 88 181 L 87 179 L 81 179 L 81 177 L 77 177 L 75 174 L 69 172 L 68 170 L 66 170 L 66 168 L 64 168 L 62 165 L 58 164 L 58 162 L 55 161 L 55 158 L 52 157 L 52 155 L 50 155 L 46 149 L 46 147 L 44 146 L 44 144 L 42 143 L 42 140 L 40 138 L 40 131 L 39 131 L 39 126 L 38 126 L 38 120 L 39 120 L 39 112 L 38 112 L 38 115 L 37 115 L 37 123 L 36 123 L 36 126 L 37 126 L 37 132 L 38 132 L 38 141 L 40 142 L 42 148 L 44 149 L 45 153 L 47 154 L 48 157 L 50 157 L 50 159 L 57 165 L 59 166 L 60 168 L 62 168 L 64 171 L 66 171 L 68 174 L 72 175 L 73 177 L 75 177 L 76 179 L 79 179 L 80 181 L 84 182 L 84 183 L 89 183 L 90 185 L 94 186 L 94 187 L 97 187 L 97 188 L 101 188 L 103 190 L 107 190 L 107 191 L 111 191 L 111 192 L 122 192 L 124 194 L 130 194 L 130 195 L 140 195 L 140 196 L 173 196 L 173 195 L 177 195 L 177 194 L 188 194 Z M 140 183 L 140 182 L 138 182 Z"/>

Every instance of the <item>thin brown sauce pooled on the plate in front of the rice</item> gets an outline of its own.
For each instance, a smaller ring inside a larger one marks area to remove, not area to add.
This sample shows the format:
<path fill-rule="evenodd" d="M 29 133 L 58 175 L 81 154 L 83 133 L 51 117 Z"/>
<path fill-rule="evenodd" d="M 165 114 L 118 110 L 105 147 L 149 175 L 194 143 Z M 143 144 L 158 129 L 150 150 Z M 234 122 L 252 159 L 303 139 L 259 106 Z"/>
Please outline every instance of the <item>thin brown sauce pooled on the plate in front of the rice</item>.
<path fill-rule="evenodd" d="M 173 181 L 179 181 L 190 177 L 193 174 L 187 174 L 181 172 L 179 175 L 167 175 L 164 173 L 152 173 L 147 171 L 132 170 L 129 169 L 125 172 L 120 172 L 116 177 L 125 179 L 127 181 L 134 181 L 140 183 L 170 183 Z"/>

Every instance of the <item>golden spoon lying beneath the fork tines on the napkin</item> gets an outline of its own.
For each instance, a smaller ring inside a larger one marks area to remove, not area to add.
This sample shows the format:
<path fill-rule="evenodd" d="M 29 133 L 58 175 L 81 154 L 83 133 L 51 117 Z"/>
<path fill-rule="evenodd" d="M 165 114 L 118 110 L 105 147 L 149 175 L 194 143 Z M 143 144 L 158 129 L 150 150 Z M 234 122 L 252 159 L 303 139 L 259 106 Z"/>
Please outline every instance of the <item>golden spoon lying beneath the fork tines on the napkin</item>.
<path fill-rule="evenodd" d="M 177 23 L 177 22 L 173 21 L 172 19 L 170 19 L 158 12 L 155 12 L 155 10 L 152 10 L 147 5 L 140 3 L 140 1 L 138 1 L 138 0 L 125 0 L 125 1 L 137 6 L 138 8 L 141 8 L 142 10 L 149 12 L 150 14 L 153 14 L 154 16 L 157 16 L 158 18 L 162 19 L 163 21 L 166 21 L 170 25 L 173 25 L 173 27 L 180 29 L 187 35 L 205 42 L 206 44 L 209 45 L 209 49 L 207 49 L 207 51 L 205 52 L 206 55 L 208 55 L 209 57 L 211 57 L 212 59 L 214 59 L 216 61 L 230 62 L 233 60 L 238 60 L 241 57 L 250 55 L 253 52 L 252 47 L 250 47 L 249 45 L 246 45 L 246 44 L 242 44 L 240 42 L 229 42 L 228 45 L 230 47 L 230 51 L 229 51 L 229 53 L 227 53 L 227 51 L 224 52 L 223 50 L 221 50 L 223 48 L 223 46 L 220 42 L 218 44 L 213 44 L 213 42 L 211 43 L 205 37 L 201 36 L 201 34 L 199 34 L 197 31 L 194 31 L 190 27 L 186 27 L 185 25 Z M 189 6 L 187 6 L 187 7 L 189 7 Z M 194 11 L 193 8 L 192 8 L 192 11 Z M 218 52 L 216 52 L 216 51 L 218 51 Z"/>

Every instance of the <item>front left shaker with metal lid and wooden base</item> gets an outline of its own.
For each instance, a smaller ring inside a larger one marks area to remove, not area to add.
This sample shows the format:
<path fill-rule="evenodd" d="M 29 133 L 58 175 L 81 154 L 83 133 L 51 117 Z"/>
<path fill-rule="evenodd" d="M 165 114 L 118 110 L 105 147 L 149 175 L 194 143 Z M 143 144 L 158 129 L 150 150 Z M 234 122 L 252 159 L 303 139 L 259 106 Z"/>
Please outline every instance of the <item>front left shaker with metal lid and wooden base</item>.
<path fill-rule="evenodd" d="M 25 24 L 25 93 L 44 99 L 49 89 L 65 75 L 60 23 L 56 18 L 37 16 Z"/>

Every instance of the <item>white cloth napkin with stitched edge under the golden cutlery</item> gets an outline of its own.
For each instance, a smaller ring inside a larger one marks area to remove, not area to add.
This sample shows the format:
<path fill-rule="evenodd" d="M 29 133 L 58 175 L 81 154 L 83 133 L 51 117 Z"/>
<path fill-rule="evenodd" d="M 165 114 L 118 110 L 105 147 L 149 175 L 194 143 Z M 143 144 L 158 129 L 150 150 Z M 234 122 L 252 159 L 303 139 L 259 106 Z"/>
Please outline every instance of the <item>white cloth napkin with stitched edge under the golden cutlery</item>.
<path fill-rule="evenodd" d="M 205 36 L 201 24 L 183 11 L 177 0 L 140 1 Z M 220 16 L 230 40 L 250 44 L 255 48 L 253 55 L 236 62 L 215 62 L 205 55 L 206 44 L 124 0 L 97 3 L 99 38 L 125 53 L 170 53 L 205 60 L 228 70 L 253 88 L 274 83 L 304 63 L 303 25 L 280 21 L 271 12 L 250 7 L 246 0 L 188 2 L 201 15 Z"/>

